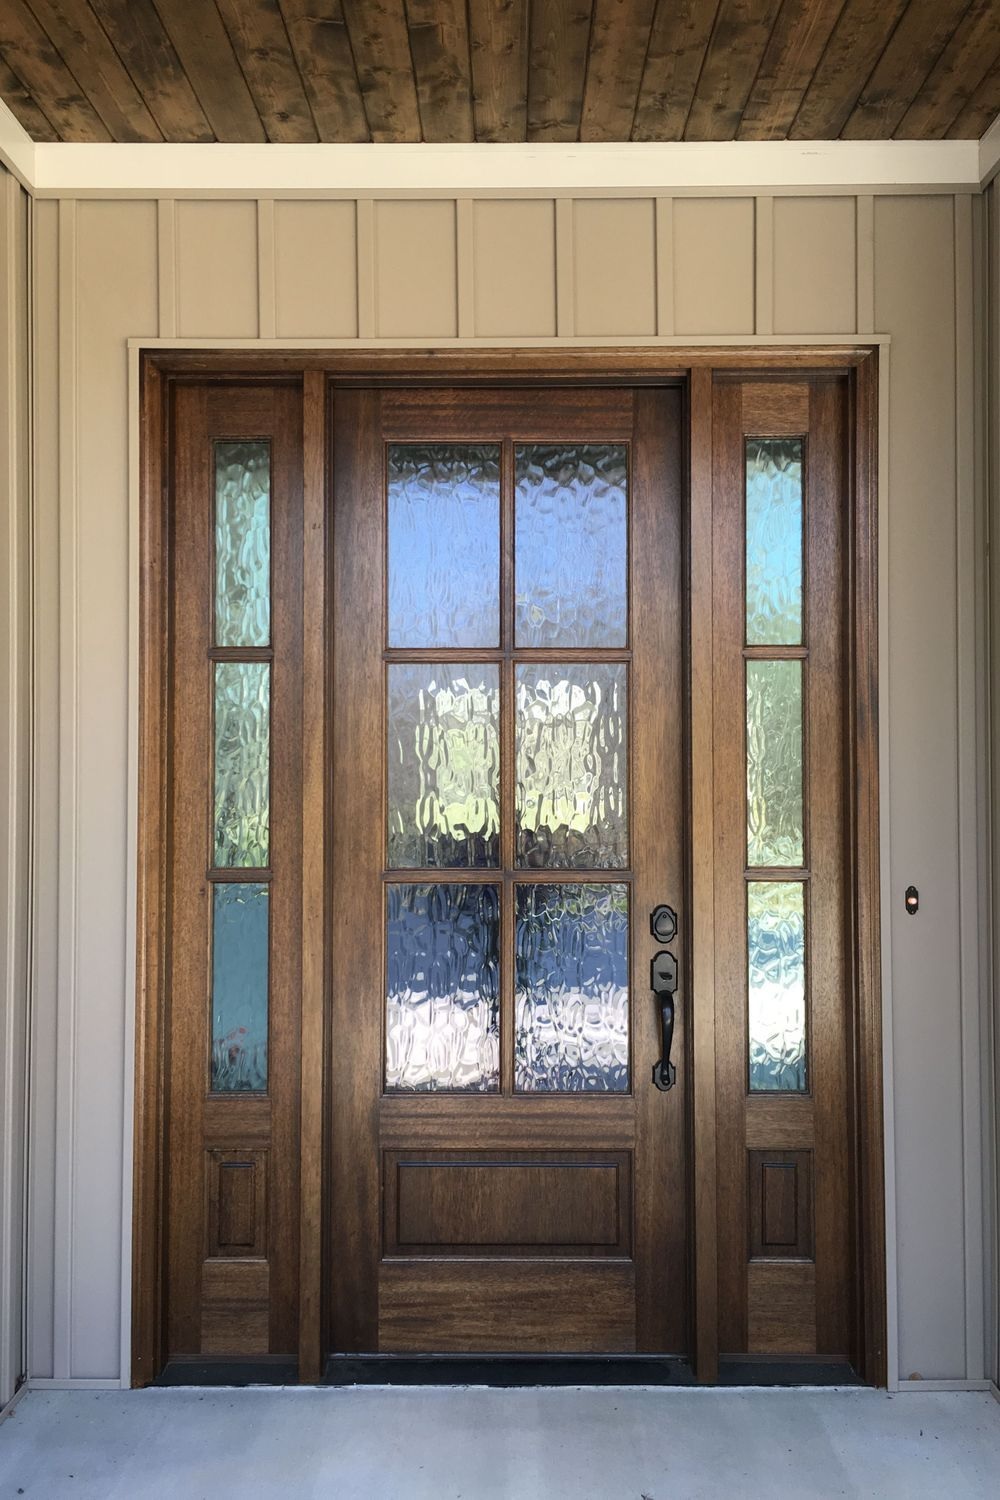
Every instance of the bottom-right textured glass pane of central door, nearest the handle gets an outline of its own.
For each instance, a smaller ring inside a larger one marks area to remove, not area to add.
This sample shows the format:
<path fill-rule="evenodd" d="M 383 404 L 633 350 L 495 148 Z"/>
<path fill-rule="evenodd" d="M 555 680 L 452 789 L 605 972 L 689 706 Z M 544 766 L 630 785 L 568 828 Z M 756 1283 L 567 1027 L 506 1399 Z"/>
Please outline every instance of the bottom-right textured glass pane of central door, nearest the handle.
<path fill-rule="evenodd" d="M 519 885 L 514 1083 L 628 1090 L 628 886 Z"/>

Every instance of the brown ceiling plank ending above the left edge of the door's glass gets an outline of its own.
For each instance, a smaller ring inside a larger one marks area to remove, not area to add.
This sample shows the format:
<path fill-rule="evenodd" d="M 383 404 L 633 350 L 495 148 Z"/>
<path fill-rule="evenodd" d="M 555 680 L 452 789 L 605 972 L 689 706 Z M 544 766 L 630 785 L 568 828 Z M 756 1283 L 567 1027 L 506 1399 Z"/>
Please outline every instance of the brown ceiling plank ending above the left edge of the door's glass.
<path fill-rule="evenodd" d="M 403 0 L 342 0 L 373 141 L 418 141 L 420 106 Z"/>

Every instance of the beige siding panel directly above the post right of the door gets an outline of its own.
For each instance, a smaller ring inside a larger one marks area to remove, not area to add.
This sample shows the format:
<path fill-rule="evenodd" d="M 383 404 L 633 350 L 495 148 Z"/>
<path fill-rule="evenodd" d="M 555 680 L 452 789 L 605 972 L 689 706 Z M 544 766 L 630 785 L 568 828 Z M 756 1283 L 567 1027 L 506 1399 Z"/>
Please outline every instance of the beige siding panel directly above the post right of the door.
<path fill-rule="evenodd" d="M 676 198 L 675 333 L 754 332 L 753 198 Z"/>

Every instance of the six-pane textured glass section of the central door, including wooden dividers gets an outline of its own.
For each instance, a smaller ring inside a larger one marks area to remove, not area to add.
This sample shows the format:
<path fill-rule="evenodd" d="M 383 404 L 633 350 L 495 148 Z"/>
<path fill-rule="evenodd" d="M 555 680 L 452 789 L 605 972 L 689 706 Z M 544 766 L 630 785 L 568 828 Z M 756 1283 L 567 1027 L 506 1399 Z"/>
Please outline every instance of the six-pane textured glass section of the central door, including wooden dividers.
<path fill-rule="evenodd" d="M 385 1089 L 627 1092 L 628 446 L 385 488 Z"/>

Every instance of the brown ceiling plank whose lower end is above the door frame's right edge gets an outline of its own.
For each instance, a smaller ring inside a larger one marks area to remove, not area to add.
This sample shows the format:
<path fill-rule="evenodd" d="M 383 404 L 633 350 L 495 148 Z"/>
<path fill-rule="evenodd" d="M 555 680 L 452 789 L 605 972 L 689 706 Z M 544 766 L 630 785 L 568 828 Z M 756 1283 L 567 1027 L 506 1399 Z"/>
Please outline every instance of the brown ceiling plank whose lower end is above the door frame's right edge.
<path fill-rule="evenodd" d="M 844 124 L 846 141 L 895 134 L 967 10 L 969 0 L 910 0 Z"/>

